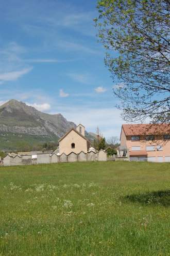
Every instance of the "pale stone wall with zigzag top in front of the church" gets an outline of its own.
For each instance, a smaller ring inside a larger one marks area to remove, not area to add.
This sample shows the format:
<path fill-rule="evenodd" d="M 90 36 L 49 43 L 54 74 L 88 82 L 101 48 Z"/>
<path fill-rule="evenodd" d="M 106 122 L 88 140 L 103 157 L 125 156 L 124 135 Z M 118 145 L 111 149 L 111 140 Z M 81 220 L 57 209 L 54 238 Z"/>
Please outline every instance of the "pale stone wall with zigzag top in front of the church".
<path fill-rule="evenodd" d="M 100 150 L 95 153 L 90 151 L 85 153 L 81 151 L 76 154 L 71 152 L 69 155 L 62 153 L 60 156 L 53 153 L 52 155 L 49 153 L 37 154 L 37 158 L 32 159 L 31 155 L 16 155 L 14 157 L 7 154 L 4 157 L 4 166 L 7 165 L 33 165 L 33 164 L 51 164 L 51 163 L 66 163 L 66 162 L 94 162 L 94 161 L 107 161 L 107 152 L 104 150 Z"/>

